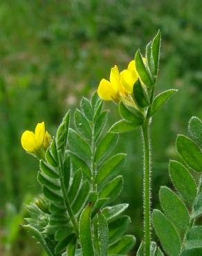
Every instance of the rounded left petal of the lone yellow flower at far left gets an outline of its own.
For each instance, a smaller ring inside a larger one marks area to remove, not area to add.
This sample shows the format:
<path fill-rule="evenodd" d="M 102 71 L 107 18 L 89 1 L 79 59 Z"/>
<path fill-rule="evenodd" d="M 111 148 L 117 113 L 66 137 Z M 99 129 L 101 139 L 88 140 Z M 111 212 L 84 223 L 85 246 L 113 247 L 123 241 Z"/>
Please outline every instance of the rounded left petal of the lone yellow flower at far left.
<path fill-rule="evenodd" d="M 28 152 L 34 152 L 37 148 L 37 140 L 33 131 L 24 131 L 21 136 L 21 145 Z"/>

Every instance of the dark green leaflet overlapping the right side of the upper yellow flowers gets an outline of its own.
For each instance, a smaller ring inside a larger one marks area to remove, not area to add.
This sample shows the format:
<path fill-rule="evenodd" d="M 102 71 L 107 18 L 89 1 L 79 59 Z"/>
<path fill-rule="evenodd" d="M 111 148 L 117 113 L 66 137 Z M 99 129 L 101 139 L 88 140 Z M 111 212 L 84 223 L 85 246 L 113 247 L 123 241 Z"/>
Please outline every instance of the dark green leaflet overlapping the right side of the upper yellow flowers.
<path fill-rule="evenodd" d="M 149 99 L 148 99 L 147 93 L 145 92 L 145 89 L 143 88 L 143 84 L 141 84 L 139 79 L 134 83 L 133 91 L 134 91 L 134 98 L 139 107 L 144 108 L 149 106 Z"/>

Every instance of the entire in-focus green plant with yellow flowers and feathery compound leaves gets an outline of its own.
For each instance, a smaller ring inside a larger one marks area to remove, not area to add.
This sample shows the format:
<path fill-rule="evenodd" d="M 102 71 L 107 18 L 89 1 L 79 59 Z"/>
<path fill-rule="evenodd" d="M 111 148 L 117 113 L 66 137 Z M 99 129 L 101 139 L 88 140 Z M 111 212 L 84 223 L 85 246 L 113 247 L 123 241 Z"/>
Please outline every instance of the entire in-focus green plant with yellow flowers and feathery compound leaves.
<path fill-rule="evenodd" d="M 125 154 L 113 154 L 122 132 L 141 127 L 144 144 L 143 215 L 144 238 L 138 256 L 194 256 L 202 254 L 202 229 L 195 225 L 202 213 L 201 178 L 198 184 L 187 170 L 202 171 L 202 124 L 190 120 L 190 136 L 178 136 L 176 148 L 185 161 L 169 164 L 169 174 L 178 194 L 160 188 L 163 212 L 152 213 L 152 166 L 149 127 L 154 113 L 174 93 L 170 89 L 155 96 L 160 60 L 160 32 L 147 44 L 145 57 L 138 50 L 127 69 L 111 68 L 110 79 L 102 79 L 98 94 L 82 98 L 80 109 L 68 111 L 51 138 L 44 122 L 35 133 L 25 131 L 21 144 L 39 158 L 37 179 L 42 194 L 27 205 L 30 217 L 24 225 L 49 256 L 123 256 L 135 244 L 125 235 L 130 217 L 122 215 L 127 203 L 112 205 L 122 191 L 120 174 Z M 99 95 L 99 97 L 98 97 Z M 103 100 L 119 104 L 121 120 L 107 129 L 109 111 Z M 155 121 L 155 118 L 154 118 Z M 195 140 L 195 142 L 194 142 Z M 153 219 L 152 219 L 153 218 Z M 152 225 L 153 220 L 153 225 Z M 153 228 L 160 243 L 152 239 Z M 172 242 L 171 242 L 172 241 Z"/>

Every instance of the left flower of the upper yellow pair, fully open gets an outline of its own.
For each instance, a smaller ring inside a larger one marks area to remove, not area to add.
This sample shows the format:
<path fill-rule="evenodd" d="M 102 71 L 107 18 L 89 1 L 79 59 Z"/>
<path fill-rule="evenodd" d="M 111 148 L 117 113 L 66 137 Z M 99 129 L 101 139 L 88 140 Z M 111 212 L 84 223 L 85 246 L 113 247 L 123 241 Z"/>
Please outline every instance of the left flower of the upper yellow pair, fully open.
<path fill-rule="evenodd" d="M 125 89 L 120 81 L 118 66 L 111 68 L 110 81 L 102 79 L 98 86 L 98 95 L 102 100 L 118 102 L 125 95 Z"/>

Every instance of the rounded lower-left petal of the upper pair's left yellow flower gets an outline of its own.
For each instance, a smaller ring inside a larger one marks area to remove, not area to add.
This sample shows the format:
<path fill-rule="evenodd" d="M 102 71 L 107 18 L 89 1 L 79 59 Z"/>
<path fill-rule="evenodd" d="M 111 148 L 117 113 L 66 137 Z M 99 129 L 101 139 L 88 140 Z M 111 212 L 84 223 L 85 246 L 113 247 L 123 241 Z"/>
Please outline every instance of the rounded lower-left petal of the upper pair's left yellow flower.
<path fill-rule="evenodd" d="M 102 100 L 112 100 L 113 98 L 117 98 L 117 93 L 113 90 L 111 83 L 105 79 L 100 81 L 98 95 Z"/>

